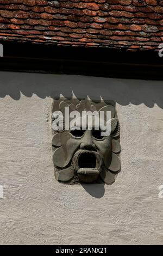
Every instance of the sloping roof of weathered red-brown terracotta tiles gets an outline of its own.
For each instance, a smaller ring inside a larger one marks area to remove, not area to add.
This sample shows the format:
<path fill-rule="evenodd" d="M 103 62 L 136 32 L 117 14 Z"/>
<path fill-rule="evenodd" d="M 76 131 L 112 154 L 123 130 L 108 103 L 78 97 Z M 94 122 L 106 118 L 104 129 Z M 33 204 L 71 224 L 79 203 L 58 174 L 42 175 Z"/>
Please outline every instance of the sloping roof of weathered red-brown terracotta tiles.
<path fill-rule="evenodd" d="M 0 0 L 0 39 L 155 50 L 163 0 Z"/>

